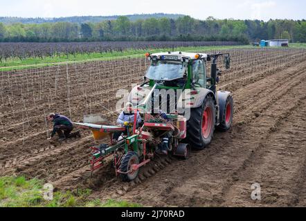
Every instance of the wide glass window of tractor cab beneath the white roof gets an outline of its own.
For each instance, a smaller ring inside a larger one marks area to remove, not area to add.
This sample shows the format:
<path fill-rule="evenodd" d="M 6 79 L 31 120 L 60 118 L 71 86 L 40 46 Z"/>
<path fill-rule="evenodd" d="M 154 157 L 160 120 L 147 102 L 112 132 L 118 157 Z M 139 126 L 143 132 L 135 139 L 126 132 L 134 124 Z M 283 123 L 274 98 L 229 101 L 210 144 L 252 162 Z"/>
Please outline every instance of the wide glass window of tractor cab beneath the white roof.
<path fill-rule="evenodd" d="M 183 78 L 185 72 L 187 73 L 186 62 L 156 61 L 152 62 L 145 77 L 156 81 L 172 81 L 174 79 Z"/>

